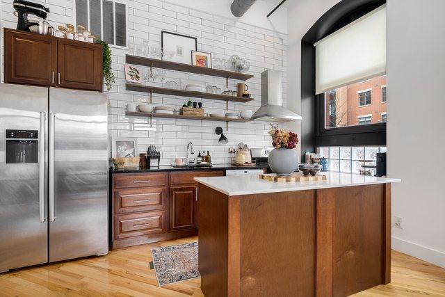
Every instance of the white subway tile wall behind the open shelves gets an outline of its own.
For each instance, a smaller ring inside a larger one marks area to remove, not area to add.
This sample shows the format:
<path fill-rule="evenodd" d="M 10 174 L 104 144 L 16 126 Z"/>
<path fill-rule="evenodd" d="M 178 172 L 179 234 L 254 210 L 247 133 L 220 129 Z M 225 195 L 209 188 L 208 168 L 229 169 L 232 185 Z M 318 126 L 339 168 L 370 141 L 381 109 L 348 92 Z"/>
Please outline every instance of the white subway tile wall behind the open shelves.
<path fill-rule="evenodd" d="M 13 15 L 13 0 L 0 0 L 0 2 L 1 28 L 3 26 L 15 28 L 17 17 Z M 41 0 L 38 2 L 49 6 L 51 10 L 49 22 L 51 24 L 74 23 L 72 9 L 74 0 Z M 183 6 L 177 6 L 170 2 L 181 3 Z M 222 5 L 225 2 L 227 2 L 227 7 Z M 128 8 L 129 38 L 149 40 L 149 46 L 161 47 L 161 30 L 178 32 L 196 37 L 198 50 L 211 52 L 215 58 L 229 58 L 232 54 L 238 54 L 250 61 L 249 73 L 253 74 L 254 78 L 247 81 L 247 84 L 254 100 L 246 104 L 229 102 L 229 111 L 238 112 L 243 109 L 256 111 L 259 108 L 261 105 L 260 74 L 266 69 L 282 72 L 283 102 L 286 104 L 287 36 L 284 33 L 264 29 L 268 22 L 266 15 L 264 15 L 264 18 L 257 20 L 259 24 L 262 24 L 261 26 L 253 26 L 253 19 L 247 17 L 248 13 L 246 13 L 246 17 L 241 19 L 227 17 L 230 3 L 225 0 L 177 0 L 169 2 L 127 0 L 125 3 L 127 3 Z M 264 10 L 266 4 L 268 7 L 270 6 L 270 3 L 258 1 L 252 6 L 254 10 L 251 13 L 262 15 L 261 11 Z M 193 9 L 184 7 L 184 5 L 193 7 Z M 205 10 L 212 13 L 203 12 Z M 226 17 L 220 16 L 221 14 Z M 254 15 L 251 17 L 254 17 Z M 243 22 L 243 19 L 246 22 Z M 286 17 L 282 17 L 277 24 L 279 24 L 279 27 L 285 27 Z M 3 45 L 3 40 L 1 44 Z M 116 83 L 111 92 L 108 93 L 111 104 L 108 110 L 109 135 L 137 138 L 140 152 L 146 151 L 147 145 L 161 147 L 161 163 L 165 165 L 170 164 L 172 159 L 176 157 L 186 156 L 188 141 L 193 141 L 195 150 L 209 150 L 212 154 L 213 163 L 229 163 L 231 155 L 227 152 L 228 148 L 241 141 L 250 147 L 270 147 L 271 141 L 268 135 L 267 122 L 230 122 L 229 131 L 224 131 L 225 136 L 229 138 L 229 143 L 218 145 L 218 136 L 214 133 L 214 130 L 218 126 L 226 130 L 224 122 L 156 118 L 152 125 L 149 125 L 148 118 L 127 117 L 125 106 L 129 102 L 147 102 L 148 100 L 146 93 L 125 90 L 124 63 L 127 53 L 128 51 L 125 49 L 112 49 Z M 220 88 L 225 87 L 225 79 L 221 78 L 174 71 L 168 71 L 167 76 L 169 79 L 195 79 L 206 81 L 206 83 Z M 229 88 L 236 90 L 236 83 L 238 82 L 230 80 Z M 193 101 L 204 102 L 206 113 L 225 113 L 224 102 L 192 99 Z M 179 108 L 187 100 L 187 97 L 153 96 L 155 105 L 163 104 L 175 108 Z"/>

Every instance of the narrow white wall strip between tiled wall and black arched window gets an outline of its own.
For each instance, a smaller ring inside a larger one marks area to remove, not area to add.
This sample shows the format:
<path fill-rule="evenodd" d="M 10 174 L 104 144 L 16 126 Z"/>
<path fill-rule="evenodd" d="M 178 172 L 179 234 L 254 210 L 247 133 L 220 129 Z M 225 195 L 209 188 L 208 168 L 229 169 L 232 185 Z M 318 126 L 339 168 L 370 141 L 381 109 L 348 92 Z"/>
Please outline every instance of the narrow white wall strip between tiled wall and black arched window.
<path fill-rule="evenodd" d="M 287 31 L 287 107 L 301 114 L 301 39 L 315 22 L 340 0 L 288 0 Z M 314 90 L 315 91 L 315 90 Z M 302 115 L 303 117 L 305 115 Z M 301 122 L 289 122 L 287 128 L 301 135 Z M 298 151 L 301 150 L 298 144 Z"/>

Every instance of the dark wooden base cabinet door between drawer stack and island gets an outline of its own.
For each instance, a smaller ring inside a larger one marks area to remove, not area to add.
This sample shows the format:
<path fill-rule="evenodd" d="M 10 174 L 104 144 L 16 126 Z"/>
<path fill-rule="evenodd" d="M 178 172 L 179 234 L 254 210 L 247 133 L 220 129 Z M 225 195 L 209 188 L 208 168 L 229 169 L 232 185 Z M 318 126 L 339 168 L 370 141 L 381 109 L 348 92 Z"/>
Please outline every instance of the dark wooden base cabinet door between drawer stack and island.
<path fill-rule="evenodd" d="M 197 186 L 170 188 L 170 231 L 197 228 Z"/>

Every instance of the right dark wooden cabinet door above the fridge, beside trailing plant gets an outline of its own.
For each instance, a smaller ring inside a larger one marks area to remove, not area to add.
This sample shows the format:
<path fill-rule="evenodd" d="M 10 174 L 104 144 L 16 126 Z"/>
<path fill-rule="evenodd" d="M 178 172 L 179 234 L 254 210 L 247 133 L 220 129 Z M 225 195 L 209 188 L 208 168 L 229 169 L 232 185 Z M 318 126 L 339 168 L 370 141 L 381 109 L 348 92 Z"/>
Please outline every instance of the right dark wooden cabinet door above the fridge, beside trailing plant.
<path fill-rule="evenodd" d="M 57 85 L 81 90 L 102 90 L 102 46 L 58 40 Z"/>

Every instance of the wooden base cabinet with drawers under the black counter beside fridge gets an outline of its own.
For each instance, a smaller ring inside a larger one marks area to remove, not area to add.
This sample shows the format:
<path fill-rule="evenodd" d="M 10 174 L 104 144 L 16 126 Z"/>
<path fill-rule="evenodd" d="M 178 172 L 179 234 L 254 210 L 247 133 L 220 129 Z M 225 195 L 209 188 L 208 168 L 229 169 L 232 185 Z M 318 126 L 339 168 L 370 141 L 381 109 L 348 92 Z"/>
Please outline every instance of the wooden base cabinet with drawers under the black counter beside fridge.
<path fill-rule="evenodd" d="M 112 173 L 113 248 L 197 235 L 195 177 L 221 171 Z"/>

